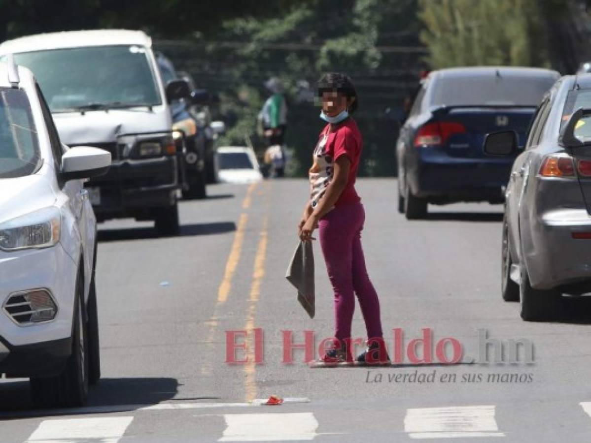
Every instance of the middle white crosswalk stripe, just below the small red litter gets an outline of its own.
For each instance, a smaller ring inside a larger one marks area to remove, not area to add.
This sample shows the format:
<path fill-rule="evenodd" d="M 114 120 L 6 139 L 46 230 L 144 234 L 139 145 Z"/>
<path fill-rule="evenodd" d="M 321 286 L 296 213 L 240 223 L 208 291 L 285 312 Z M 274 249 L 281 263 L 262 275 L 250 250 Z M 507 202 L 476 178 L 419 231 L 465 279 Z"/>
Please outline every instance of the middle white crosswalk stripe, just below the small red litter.
<path fill-rule="evenodd" d="M 218 441 L 313 440 L 318 422 L 311 412 L 224 414 L 226 429 Z"/>

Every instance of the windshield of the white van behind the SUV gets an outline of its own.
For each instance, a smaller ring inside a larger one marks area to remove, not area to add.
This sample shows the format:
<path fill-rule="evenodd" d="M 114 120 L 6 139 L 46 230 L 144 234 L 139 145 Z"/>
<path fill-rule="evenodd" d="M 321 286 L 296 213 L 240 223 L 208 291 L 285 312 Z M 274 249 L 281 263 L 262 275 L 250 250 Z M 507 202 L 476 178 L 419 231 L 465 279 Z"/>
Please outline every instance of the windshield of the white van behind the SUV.
<path fill-rule="evenodd" d="M 14 58 L 33 71 L 51 111 L 161 104 L 144 47 L 67 48 Z"/>

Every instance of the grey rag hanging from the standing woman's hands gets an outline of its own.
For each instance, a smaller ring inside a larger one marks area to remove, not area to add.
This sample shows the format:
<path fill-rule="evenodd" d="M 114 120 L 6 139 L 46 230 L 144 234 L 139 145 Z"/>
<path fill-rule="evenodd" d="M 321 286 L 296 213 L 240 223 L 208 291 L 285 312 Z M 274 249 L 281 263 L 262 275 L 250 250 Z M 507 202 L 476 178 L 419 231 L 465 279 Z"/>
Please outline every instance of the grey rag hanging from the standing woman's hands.
<path fill-rule="evenodd" d="M 304 307 L 310 318 L 314 318 L 314 256 L 312 254 L 312 242 L 300 241 L 285 278 L 296 287 L 297 299 Z"/>

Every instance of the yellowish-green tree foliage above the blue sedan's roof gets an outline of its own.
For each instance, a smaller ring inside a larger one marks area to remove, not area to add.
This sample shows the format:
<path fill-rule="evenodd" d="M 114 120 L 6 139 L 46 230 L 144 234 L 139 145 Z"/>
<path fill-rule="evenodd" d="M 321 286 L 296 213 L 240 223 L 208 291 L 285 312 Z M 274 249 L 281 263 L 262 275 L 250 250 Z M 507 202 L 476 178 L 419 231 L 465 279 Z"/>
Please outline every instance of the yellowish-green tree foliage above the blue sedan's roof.
<path fill-rule="evenodd" d="M 548 14 L 566 0 L 419 0 L 432 68 L 467 65 L 548 67 Z"/>

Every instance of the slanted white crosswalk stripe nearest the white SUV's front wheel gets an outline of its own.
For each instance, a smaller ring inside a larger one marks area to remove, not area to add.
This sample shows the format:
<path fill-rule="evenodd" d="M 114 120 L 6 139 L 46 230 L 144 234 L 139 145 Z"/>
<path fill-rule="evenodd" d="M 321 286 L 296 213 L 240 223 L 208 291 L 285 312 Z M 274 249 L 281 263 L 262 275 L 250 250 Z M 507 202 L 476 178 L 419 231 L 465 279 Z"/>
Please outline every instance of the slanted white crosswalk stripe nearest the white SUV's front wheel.
<path fill-rule="evenodd" d="M 116 443 L 125 434 L 133 417 L 94 417 L 44 420 L 27 442 L 67 443 L 77 439 L 100 439 Z"/>

